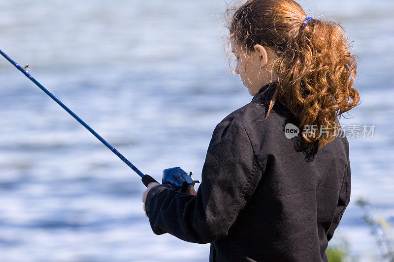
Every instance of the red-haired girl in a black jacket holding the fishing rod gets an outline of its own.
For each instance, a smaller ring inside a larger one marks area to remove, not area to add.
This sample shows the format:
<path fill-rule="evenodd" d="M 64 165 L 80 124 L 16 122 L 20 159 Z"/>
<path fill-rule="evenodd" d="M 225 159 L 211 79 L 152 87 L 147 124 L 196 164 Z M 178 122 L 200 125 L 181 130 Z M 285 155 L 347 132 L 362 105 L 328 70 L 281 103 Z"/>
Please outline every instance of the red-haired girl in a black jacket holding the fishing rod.
<path fill-rule="evenodd" d="M 149 184 L 152 230 L 211 243 L 210 261 L 327 262 L 350 200 L 338 116 L 359 102 L 346 34 L 293 0 L 248 0 L 229 29 L 253 99 L 214 129 L 197 193 Z"/>

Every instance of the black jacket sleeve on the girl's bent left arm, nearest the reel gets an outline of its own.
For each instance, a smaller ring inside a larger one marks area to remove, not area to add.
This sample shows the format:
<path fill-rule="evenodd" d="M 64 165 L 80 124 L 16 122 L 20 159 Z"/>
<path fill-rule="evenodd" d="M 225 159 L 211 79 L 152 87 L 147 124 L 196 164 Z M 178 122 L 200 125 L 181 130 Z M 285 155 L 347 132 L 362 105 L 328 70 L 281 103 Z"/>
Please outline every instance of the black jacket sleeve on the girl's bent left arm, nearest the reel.
<path fill-rule="evenodd" d="M 196 196 L 167 185 L 149 191 L 145 207 L 153 232 L 201 244 L 226 236 L 257 187 L 258 166 L 243 125 L 236 120 L 220 122 L 208 146 Z"/>

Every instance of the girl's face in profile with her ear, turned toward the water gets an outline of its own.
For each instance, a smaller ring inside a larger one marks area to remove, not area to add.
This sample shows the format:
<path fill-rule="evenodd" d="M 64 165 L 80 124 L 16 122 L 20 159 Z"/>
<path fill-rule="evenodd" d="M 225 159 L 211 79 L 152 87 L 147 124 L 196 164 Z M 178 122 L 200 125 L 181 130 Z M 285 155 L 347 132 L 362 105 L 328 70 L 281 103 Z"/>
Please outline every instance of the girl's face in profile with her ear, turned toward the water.
<path fill-rule="evenodd" d="M 272 61 L 277 56 L 269 48 L 255 45 L 253 52 L 246 54 L 242 52 L 234 38 L 230 39 L 230 43 L 231 52 L 236 58 L 234 72 L 241 77 L 242 83 L 248 88 L 250 95 L 254 96 L 260 88 L 276 81 L 277 74 L 272 72 L 272 64 L 268 63 L 268 59 Z"/>

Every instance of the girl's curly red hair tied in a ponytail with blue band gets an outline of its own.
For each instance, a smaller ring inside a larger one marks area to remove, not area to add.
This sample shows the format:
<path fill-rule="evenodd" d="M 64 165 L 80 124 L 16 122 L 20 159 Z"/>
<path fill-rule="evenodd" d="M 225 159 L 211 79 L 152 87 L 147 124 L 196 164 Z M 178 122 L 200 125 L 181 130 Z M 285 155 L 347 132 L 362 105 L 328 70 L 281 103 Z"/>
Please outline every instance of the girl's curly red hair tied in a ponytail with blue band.
<path fill-rule="evenodd" d="M 352 87 L 357 64 L 339 24 L 305 17 L 294 0 L 248 0 L 229 29 L 248 52 L 261 44 L 279 57 L 274 61 L 278 85 L 266 116 L 275 101 L 281 102 L 296 116 L 305 142 L 318 141 L 321 147 L 335 138 L 337 116 L 359 103 Z"/>

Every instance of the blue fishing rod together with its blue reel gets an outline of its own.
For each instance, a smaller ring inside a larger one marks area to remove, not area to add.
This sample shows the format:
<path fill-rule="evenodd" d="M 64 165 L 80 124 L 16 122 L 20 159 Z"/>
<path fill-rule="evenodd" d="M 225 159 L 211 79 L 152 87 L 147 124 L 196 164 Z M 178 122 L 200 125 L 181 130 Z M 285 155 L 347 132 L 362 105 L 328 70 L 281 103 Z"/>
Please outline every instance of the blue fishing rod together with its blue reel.
<path fill-rule="evenodd" d="M 54 96 L 48 89 L 42 86 L 37 80 L 33 78 L 31 74 L 28 73 L 28 66 L 22 67 L 17 64 L 14 60 L 8 57 L 3 51 L 0 50 L 1 56 L 7 59 L 11 64 L 13 64 L 19 71 L 21 71 L 27 78 L 29 78 L 37 87 L 49 95 L 56 103 L 58 103 L 64 110 L 68 112 L 72 117 L 74 117 L 81 125 L 89 130 L 102 144 L 108 147 L 115 155 L 117 155 L 126 165 L 128 165 L 135 173 L 137 173 L 145 186 L 148 186 L 151 182 L 157 182 L 152 176 L 144 175 L 139 169 L 137 169 L 131 162 L 124 157 L 115 147 L 111 146 L 106 142 L 95 130 L 93 130 L 87 123 L 85 123 L 79 116 L 75 115 L 65 104 L 62 103 L 56 96 Z M 188 175 L 180 167 L 168 168 L 163 171 L 162 183 L 168 184 L 176 189 L 178 192 L 187 192 L 189 186 L 194 186 L 195 183 L 199 183 L 198 180 L 193 180 L 192 172 Z"/>

